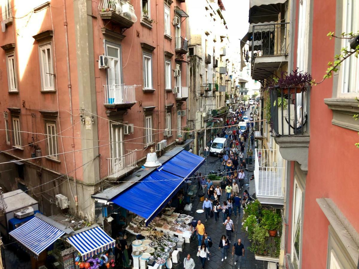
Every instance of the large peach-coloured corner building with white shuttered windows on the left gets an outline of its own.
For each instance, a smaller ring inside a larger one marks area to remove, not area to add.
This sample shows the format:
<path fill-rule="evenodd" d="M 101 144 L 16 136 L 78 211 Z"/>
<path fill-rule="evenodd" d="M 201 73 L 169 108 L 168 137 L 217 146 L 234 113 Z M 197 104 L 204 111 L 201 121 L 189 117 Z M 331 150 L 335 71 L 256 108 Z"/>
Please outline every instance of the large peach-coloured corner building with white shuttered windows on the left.
<path fill-rule="evenodd" d="M 91 194 L 186 140 L 185 0 L 2 2 L 1 185 L 93 221 Z"/>

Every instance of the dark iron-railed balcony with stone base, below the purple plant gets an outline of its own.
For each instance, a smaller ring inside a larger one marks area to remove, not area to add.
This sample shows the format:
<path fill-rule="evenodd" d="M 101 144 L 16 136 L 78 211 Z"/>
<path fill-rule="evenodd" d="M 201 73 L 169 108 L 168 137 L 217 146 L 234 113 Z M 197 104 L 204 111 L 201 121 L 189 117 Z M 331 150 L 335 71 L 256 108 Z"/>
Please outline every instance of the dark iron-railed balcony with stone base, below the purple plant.
<path fill-rule="evenodd" d="M 297 161 L 308 171 L 309 133 L 306 108 L 308 89 L 289 88 L 270 91 L 271 132 L 285 160 Z"/>

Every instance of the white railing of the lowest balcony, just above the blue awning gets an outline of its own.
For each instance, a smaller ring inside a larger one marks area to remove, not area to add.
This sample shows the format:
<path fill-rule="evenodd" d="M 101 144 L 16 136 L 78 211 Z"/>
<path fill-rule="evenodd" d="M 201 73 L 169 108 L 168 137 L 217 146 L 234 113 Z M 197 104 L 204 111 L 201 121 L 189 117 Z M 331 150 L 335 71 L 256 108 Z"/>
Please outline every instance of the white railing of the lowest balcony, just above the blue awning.
<path fill-rule="evenodd" d="M 107 166 L 110 178 L 118 178 L 126 174 L 137 167 L 136 150 L 129 150 L 129 153 L 118 158 L 107 158 Z"/>

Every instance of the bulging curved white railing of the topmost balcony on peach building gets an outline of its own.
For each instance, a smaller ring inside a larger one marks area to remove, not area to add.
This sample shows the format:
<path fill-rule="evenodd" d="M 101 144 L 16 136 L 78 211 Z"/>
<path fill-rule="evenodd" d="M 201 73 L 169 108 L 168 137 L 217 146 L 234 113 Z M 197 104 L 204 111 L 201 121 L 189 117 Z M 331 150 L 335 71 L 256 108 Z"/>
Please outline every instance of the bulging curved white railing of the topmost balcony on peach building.
<path fill-rule="evenodd" d="M 126 0 L 100 0 L 98 5 L 100 12 L 116 12 L 118 15 L 130 20 L 131 22 L 137 22 L 134 6 Z"/>

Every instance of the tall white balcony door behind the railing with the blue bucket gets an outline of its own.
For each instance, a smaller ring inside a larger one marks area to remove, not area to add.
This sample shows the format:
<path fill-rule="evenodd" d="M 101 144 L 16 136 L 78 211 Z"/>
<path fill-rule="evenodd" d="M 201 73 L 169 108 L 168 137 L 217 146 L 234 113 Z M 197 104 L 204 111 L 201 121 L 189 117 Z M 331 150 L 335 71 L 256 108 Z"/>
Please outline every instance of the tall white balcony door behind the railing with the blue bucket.
<path fill-rule="evenodd" d="M 123 103 L 123 93 L 121 90 L 121 62 L 120 62 L 120 48 L 106 45 L 106 52 L 108 58 L 107 69 L 107 94 L 108 98 L 112 99 L 110 104 Z"/>

